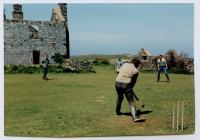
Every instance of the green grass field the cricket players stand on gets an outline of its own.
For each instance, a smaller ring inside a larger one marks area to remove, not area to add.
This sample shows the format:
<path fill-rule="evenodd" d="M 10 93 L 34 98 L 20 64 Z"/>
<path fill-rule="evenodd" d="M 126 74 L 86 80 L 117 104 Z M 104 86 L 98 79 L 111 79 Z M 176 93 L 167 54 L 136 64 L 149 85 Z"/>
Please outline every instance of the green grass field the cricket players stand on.
<path fill-rule="evenodd" d="M 115 115 L 117 76 L 109 66 L 96 73 L 5 75 L 6 136 L 135 136 L 192 134 L 195 128 L 194 76 L 170 74 L 156 82 L 155 73 L 140 73 L 135 87 L 138 109 L 146 122 Z M 185 101 L 184 130 L 171 129 L 172 103 Z M 145 105 L 142 108 L 142 104 Z M 126 100 L 122 112 L 129 112 Z"/>

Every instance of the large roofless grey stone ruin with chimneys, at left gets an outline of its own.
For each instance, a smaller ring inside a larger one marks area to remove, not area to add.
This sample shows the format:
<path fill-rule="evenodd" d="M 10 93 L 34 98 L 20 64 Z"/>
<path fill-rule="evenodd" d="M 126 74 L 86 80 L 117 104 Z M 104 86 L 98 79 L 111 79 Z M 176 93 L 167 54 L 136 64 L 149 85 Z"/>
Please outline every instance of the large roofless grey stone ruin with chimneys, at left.
<path fill-rule="evenodd" d="M 54 64 L 55 53 L 70 57 L 66 4 L 52 10 L 50 21 L 25 20 L 19 4 L 13 5 L 12 19 L 4 12 L 5 64 L 41 64 L 47 54 Z"/>

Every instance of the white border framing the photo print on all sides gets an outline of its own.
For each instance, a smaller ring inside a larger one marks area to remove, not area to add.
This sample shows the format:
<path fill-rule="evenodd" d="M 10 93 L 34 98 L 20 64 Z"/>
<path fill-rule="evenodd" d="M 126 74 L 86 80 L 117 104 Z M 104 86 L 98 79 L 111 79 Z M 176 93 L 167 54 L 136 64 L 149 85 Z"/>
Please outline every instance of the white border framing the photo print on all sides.
<path fill-rule="evenodd" d="M 3 5 L 12 3 L 193 3 L 194 4 L 194 67 L 195 67 L 195 133 L 191 135 L 170 136 L 130 136 L 130 137 L 74 137 L 74 138 L 47 138 L 47 137 L 7 137 L 4 136 L 4 34 L 3 34 Z M 199 0 L 1 0 L 0 1 L 0 139 L 2 140 L 196 140 L 200 137 L 200 1 Z"/>

